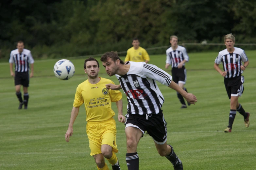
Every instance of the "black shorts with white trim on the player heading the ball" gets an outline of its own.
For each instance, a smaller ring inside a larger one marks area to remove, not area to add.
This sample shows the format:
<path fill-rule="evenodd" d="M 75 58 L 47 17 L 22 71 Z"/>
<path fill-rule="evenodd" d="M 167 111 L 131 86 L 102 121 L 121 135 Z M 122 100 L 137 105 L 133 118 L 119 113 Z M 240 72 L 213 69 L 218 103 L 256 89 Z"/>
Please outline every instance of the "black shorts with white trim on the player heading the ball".
<path fill-rule="evenodd" d="M 151 115 L 151 116 L 150 116 Z M 148 115 L 135 115 L 126 114 L 126 128 L 136 127 L 142 131 L 144 134 L 147 131 L 153 140 L 162 145 L 167 140 L 167 128 L 166 121 L 164 120 L 162 111 L 158 114 L 148 114 Z M 143 137 L 143 135 L 142 135 Z"/>

